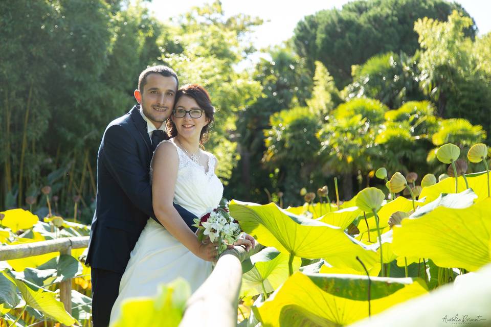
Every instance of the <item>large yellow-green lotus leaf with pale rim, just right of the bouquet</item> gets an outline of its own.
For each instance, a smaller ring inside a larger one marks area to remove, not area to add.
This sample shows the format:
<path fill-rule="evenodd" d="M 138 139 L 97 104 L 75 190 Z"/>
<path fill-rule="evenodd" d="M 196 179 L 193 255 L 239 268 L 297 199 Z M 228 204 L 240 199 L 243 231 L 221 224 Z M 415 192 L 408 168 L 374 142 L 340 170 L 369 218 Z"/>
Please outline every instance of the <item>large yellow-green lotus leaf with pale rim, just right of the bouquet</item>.
<path fill-rule="evenodd" d="M 368 267 L 377 263 L 376 253 L 348 236 L 342 228 L 295 216 L 276 204 L 259 205 L 232 200 L 232 216 L 242 229 L 260 244 L 301 258 L 323 258 L 335 267 L 363 269 L 359 256 Z"/>

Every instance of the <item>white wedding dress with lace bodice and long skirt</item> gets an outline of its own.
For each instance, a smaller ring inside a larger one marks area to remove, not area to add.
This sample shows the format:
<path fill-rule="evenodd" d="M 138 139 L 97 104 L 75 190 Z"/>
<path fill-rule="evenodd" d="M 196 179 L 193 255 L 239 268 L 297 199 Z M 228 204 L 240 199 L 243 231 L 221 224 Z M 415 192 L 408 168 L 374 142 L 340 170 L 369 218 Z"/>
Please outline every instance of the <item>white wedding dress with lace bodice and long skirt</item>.
<path fill-rule="evenodd" d="M 224 186 L 215 175 L 216 158 L 206 152 L 208 171 L 191 158 L 172 140 L 179 156 L 175 182 L 174 203 L 200 217 L 218 206 Z M 152 169 L 150 167 L 150 180 Z M 194 255 L 153 219 L 148 222 L 138 239 L 124 271 L 119 295 L 111 311 L 110 322 L 117 320 L 122 302 L 130 297 L 153 296 L 158 285 L 182 277 L 194 292 L 211 273 L 211 262 Z"/>

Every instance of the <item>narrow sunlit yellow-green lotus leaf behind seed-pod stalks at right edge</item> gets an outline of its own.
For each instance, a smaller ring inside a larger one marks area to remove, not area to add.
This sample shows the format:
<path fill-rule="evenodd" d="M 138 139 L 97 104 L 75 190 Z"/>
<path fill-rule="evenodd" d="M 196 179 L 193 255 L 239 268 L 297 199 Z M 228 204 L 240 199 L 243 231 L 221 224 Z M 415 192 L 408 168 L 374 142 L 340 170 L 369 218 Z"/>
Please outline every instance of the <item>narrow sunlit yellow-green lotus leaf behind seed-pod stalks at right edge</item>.
<path fill-rule="evenodd" d="M 487 198 L 487 177 L 486 172 L 479 172 L 474 174 L 466 174 L 467 182 L 469 183 L 469 188 L 471 188 L 477 195 L 476 202 L 482 201 Z M 462 176 L 458 177 L 458 188 L 457 193 L 465 191 L 467 188 L 465 186 L 465 181 Z M 441 193 L 455 193 L 455 179 L 445 178 L 442 181 L 436 183 L 435 185 L 427 186 L 423 188 L 419 199 L 425 198 L 425 203 L 432 202 Z"/>

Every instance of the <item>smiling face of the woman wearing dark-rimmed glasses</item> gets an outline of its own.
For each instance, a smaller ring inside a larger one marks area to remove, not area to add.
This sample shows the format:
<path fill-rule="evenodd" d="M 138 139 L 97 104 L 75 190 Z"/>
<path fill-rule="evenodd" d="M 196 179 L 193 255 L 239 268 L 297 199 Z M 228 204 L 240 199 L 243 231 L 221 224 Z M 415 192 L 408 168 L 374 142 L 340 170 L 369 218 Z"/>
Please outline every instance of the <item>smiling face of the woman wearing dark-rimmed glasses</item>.
<path fill-rule="evenodd" d="M 184 110 L 195 110 L 193 112 L 197 113 L 196 110 L 201 110 L 201 108 L 198 106 L 196 100 L 194 100 L 193 98 L 189 96 L 182 96 L 175 104 L 174 110 L 176 111 L 177 115 L 180 115 L 178 113 L 183 113 Z M 197 137 L 198 139 L 201 130 L 209 122 L 204 111 L 202 111 L 202 115 L 199 118 L 192 118 L 190 112 L 186 112 L 184 117 L 182 118 L 177 118 L 176 115 L 172 113 L 171 119 L 172 122 L 174 122 L 178 135 L 186 138 Z"/>

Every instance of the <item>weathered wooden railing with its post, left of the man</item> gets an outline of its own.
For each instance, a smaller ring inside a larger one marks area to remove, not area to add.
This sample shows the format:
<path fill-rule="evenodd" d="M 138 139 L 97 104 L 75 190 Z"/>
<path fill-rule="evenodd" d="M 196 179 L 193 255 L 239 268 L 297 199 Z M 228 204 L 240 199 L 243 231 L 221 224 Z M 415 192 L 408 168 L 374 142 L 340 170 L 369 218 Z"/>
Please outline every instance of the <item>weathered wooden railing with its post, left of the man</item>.
<path fill-rule="evenodd" d="M 60 238 L 34 243 L 0 246 L 0 261 L 28 258 L 29 256 L 60 252 L 72 254 L 72 249 L 88 246 L 88 236 Z M 72 279 L 60 283 L 60 301 L 66 312 L 72 314 Z"/>

